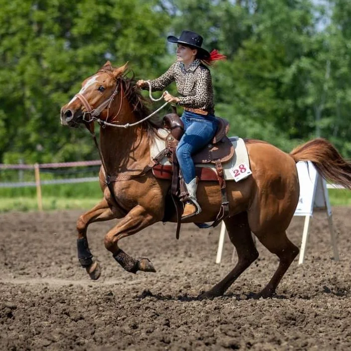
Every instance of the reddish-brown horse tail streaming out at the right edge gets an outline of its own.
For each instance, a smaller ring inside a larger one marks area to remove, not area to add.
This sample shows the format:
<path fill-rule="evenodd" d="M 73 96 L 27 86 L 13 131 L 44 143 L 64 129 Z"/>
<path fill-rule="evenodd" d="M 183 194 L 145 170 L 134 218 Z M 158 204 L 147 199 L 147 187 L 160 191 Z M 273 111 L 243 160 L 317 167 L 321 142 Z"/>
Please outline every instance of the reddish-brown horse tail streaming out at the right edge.
<path fill-rule="evenodd" d="M 295 162 L 311 161 L 325 179 L 351 190 L 351 163 L 328 140 L 311 140 L 296 147 L 289 155 Z"/>

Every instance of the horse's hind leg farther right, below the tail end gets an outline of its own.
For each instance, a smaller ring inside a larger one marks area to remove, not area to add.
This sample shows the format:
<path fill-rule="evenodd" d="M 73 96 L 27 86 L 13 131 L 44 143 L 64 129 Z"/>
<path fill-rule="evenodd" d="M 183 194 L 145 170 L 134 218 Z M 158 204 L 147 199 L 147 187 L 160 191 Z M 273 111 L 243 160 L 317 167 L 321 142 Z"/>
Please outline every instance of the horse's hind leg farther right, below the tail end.
<path fill-rule="evenodd" d="M 257 237 L 270 252 L 276 254 L 279 258 L 279 266 L 273 277 L 264 289 L 256 295 L 256 298 L 267 298 L 275 294 L 279 282 L 298 255 L 299 248 L 288 239 L 285 231 L 257 235 Z"/>

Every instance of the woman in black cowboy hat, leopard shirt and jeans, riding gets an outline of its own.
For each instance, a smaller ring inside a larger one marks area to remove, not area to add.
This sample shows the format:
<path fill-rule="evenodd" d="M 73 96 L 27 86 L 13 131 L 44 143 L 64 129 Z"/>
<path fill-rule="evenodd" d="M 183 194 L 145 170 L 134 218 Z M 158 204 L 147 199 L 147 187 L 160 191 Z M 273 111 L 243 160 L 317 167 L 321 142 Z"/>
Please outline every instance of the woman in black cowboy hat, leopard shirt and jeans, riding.
<path fill-rule="evenodd" d="M 181 120 L 184 134 L 176 149 L 176 157 L 186 189 L 191 200 L 185 203 L 182 219 L 201 212 L 196 199 L 197 177 L 191 155 L 207 145 L 217 130 L 214 116 L 211 73 L 207 65 L 225 56 L 216 50 L 209 53 L 201 47 L 202 37 L 192 31 L 183 30 L 178 38 L 169 36 L 168 41 L 177 43 L 176 62 L 161 77 L 149 81 L 153 91 L 164 90 L 176 81 L 180 97 L 164 93 L 165 101 L 184 107 Z M 139 88 L 149 88 L 145 80 L 137 82 Z"/>

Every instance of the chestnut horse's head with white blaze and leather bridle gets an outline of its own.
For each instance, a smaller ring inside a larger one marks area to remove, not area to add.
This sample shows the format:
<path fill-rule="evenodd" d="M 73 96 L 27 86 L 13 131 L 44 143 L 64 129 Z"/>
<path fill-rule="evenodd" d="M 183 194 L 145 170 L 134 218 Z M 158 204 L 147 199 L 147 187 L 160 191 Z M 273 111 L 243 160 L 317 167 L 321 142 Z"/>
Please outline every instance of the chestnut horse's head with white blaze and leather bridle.
<path fill-rule="evenodd" d="M 92 122 L 93 118 L 107 120 L 114 113 L 110 107 L 122 86 L 118 78 L 126 69 L 127 64 L 113 68 L 107 61 L 96 74 L 86 78 L 80 91 L 61 108 L 61 124 L 76 128 L 80 123 Z M 122 96 L 120 99 L 122 104 Z"/>

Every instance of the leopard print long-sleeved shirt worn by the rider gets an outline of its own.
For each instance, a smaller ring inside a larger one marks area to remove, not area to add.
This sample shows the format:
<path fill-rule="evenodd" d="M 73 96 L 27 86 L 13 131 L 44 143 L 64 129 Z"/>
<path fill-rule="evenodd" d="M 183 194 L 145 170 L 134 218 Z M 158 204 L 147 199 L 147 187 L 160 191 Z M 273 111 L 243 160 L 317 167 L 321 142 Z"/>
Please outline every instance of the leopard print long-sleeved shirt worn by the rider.
<path fill-rule="evenodd" d="M 183 62 L 177 61 L 166 73 L 150 83 L 153 91 L 160 91 L 173 81 L 176 81 L 176 88 L 180 94 L 178 105 L 201 109 L 214 115 L 211 73 L 200 60 L 195 59 L 187 69 Z"/>

